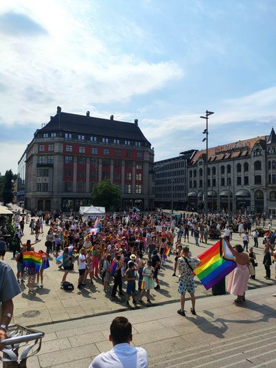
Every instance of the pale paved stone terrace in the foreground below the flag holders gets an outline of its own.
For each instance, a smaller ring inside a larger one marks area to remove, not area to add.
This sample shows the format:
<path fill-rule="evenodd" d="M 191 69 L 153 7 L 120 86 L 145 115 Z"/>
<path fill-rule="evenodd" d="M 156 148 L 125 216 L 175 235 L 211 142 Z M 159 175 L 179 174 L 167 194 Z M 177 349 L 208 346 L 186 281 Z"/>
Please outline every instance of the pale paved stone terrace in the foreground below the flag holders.
<path fill-rule="evenodd" d="M 211 296 L 197 300 L 197 316 L 179 316 L 179 303 L 127 310 L 36 327 L 46 333 L 28 368 L 88 367 L 92 357 L 111 349 L 113 318 L 132 323 L 133 344 L 148 351 L 150 367 L 275 367 L 276 287 L 253 289 L 246 302 Z"/>

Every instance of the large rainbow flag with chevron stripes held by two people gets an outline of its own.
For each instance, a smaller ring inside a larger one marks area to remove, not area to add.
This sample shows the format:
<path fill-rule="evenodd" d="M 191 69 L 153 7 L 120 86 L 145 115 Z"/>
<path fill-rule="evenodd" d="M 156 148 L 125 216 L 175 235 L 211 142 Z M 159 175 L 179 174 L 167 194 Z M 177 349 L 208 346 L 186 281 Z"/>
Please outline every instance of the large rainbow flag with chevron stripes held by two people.
<path fill-rule="evenodd" d="M 195 275 L 208 290 L 237 267 L 237 263 L 224 239 L 219 240 L 198 256 L 201 263 Z"/>

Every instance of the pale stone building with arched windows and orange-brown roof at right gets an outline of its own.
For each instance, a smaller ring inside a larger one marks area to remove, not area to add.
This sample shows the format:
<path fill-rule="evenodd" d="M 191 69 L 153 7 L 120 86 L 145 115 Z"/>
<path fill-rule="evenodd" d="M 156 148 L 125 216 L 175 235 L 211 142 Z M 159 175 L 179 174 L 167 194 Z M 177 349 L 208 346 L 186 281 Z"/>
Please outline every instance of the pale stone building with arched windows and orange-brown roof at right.
<path fill-rule="evenodd" d="M 204 208 L 206 150 L 188 166 L 188 206 Z M 276 215 L 276 135 L 208 149 L 208 209 L 266 211 Z"/>

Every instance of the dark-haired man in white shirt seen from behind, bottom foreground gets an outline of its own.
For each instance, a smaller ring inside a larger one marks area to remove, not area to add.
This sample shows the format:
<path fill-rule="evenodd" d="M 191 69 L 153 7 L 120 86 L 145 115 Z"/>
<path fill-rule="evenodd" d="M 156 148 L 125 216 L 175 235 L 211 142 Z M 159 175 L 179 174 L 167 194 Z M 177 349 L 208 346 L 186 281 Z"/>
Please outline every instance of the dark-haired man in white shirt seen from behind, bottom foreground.
<path fill-rule="evenodd" d="M 142 347 L 132 347 L 132 325 L 125 317 L 116 317 L 110 325 L 109 340 L 113 349 L 96 356 L 89 368 L 148 368 L 148 354 Z"/>

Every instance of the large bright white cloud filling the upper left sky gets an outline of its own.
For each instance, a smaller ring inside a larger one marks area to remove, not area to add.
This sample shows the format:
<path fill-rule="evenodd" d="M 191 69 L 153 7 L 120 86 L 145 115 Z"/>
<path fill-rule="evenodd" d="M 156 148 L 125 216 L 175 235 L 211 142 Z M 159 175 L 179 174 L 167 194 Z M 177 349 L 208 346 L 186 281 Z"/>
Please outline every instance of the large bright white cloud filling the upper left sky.
<path fill-rule="evenodd" d="M 94 3 L 90 6 L 89 1 L 83 2 L 80 6 L 71 1 L 66 7 L 63 4 L 11 1 L 9 6 L 6 3 L 0 7 L 1 13 L 16 11 L 28 15 L 48 32 L 36 39 L 6 37 L 1 41 L 1 55 L 6 55 L 5 66 L 0 66 L 1 84 L 3 89 L 8 88 L 8 93 L 1 94 L 6 106 L 1 118 L 6 124 L 19 119 L 21 124 L 37 124 L 38 116 L 42 122 L 47 121 L 56 105 L 72 111 L 86 110 L 90 101 L 126 102 L 183 77 L 183 70 L 173 61 L 153 63 L 108 48 L 105 39 L 95 32 L 99 21 L 91 23 Z M 138 27 L 135 37 L 139 37 Z"/>

